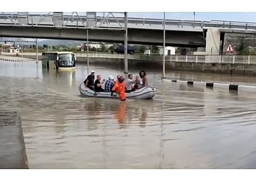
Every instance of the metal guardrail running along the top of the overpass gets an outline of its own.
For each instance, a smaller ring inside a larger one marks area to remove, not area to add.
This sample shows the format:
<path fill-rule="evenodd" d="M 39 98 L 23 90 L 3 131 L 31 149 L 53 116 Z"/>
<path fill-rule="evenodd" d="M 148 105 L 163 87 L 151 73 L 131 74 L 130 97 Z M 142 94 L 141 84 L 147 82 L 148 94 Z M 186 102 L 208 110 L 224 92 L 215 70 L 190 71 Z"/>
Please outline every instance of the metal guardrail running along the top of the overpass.
<path fill-rule="evenodd" d="M 27 24 L 19 24 L 20 16 L 18 14 L 0 14 L 0 25 L 29 25 L 29 26 L 54 26 L 54 18 L 51 14 L 28 14 Z M 22 17 L 24 18 L 24 17 Z M 83 27 L 86 26 L 86 16 L 68 16 L 63 15 L 62 27 Z M 124 17 L 96 17 L 96 27 L 93 28 L 124 28 Z M 128 26 L 140 28 L 139 26 L 162 26 L 162 19 L 153 18 L 128 18 Z M 237 29 L 256 29 L 256 23 L 237 22 L 237 21 L 191 21 L 191 20 L 165 20 L 166 26 L 175 27 L 218 27 L 218 28 L 237 28 Z M 91 28 L 91 27 L 90 27 Z M 149 28 L 149 27 L 148 27 Z"/>

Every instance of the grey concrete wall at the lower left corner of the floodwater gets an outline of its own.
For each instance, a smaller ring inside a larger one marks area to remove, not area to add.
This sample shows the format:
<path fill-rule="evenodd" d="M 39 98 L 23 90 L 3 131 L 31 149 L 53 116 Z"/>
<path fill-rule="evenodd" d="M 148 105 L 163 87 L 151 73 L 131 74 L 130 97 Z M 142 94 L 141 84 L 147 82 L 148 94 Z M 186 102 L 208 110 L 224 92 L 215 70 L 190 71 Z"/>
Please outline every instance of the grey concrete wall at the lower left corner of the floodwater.
<path fill-rule="evenodd" d="M 0 111 L 0 169 L 28 169 L 21 117 Z"/>

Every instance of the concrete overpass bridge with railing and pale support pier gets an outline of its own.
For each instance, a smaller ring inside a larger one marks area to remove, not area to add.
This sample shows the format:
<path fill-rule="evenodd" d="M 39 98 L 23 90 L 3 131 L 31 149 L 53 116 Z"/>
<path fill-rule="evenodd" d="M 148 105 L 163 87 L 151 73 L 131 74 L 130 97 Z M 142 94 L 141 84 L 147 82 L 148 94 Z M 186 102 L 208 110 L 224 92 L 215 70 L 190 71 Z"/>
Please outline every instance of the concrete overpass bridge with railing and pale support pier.
<path fill-rule="evenodd" d="M 112 12 L 106 14 L 3 13 L 0 15 L 0 37 L 86 40 L 88 29 L 89 41 L 124 42 L 124 17 L 116 17 Z M 128 18 L 128 43 L 162 45 L 162 29 L 162 19 Z M 220 54 L 225 46 L 224 34 L 253 34 L 256 23 L 167 19 L 165 29 L 167 46 L 202 47 L 201 54 Z"/>

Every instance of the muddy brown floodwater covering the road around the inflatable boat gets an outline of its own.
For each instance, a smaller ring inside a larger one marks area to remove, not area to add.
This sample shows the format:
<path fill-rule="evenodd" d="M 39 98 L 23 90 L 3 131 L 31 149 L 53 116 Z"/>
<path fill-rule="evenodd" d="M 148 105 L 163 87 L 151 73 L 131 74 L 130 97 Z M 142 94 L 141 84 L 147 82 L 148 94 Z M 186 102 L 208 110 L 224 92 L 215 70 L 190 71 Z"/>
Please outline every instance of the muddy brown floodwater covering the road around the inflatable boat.
<path fill-rule="evenodd" d="M 104 79 L 123 72 L 91 69 Z M 154 100 L 120 102 L 80 97 L 85 65 L 47 72 L 33 62 L 0 61 L 0 109 L 21 113 L 29 168 L 256 168 L 255 94 L 162 81 L 160 71 L 145 70 L 157 88 Z M 167 77 L 255 82 L 193 72 Z"/>

